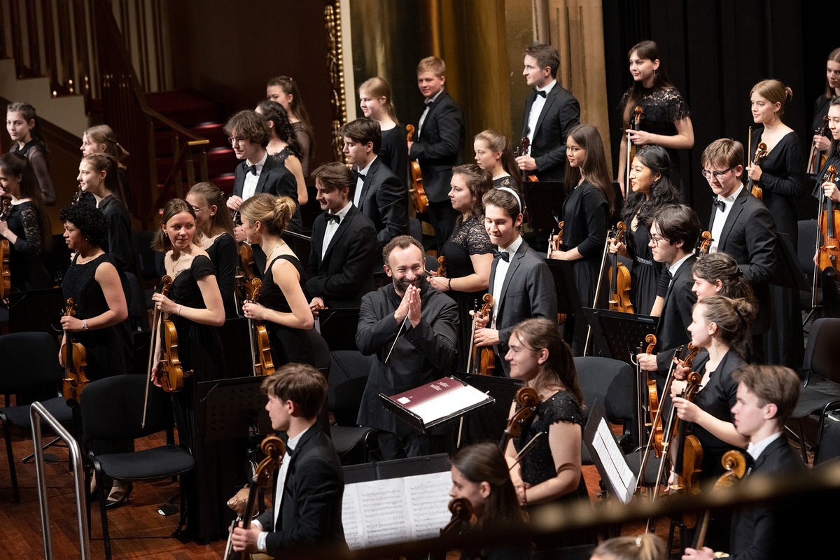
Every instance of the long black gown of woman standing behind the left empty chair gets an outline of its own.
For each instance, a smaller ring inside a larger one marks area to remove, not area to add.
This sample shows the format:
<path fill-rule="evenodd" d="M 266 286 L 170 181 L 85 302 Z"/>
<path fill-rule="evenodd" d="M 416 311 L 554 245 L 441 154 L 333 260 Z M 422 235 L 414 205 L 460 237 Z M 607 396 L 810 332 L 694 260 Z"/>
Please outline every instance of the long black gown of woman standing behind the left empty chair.
<path fill-rule="evenodd" d="M 205 308 L 198 280 L 213 275 L 213 263 L 204 255 L 192 259 L 190 268 L 181 270 L 172 283 L 170 298 L 185 307 Z M 178 332 L 178 358 L 184 373 L 192 375 L 184 380 L 184 388 L 173 395 L 175 402 L 178 437 L 192 450 L 196 458 L 195 471 L 185 477 L 187 500 L 186 528 L 188 535 L 203 542 L 227 534 L 231 518 L 225 505 L 235 493 L 235 468 L 229 462 L 245 462 L 244 452 L 235 455 L 230 451 L 233 441 L 207 442 L 202 436 L 202 406 L 196 384 L 226 377 L 222 341 L 216 327 L 192 322 L 184 317 L 170 316 Z M 161 333 L 162 334 L 162 333 Z M 248 434 L 243 434 L 246 438 Z"/>

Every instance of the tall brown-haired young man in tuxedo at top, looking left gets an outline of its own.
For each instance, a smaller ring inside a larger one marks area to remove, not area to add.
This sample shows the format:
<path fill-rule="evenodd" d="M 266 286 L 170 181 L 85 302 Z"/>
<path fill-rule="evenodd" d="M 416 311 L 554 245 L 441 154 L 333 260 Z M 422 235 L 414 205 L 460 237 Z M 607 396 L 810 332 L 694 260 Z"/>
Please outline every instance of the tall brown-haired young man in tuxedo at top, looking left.
<path fill-rule="evenodd" d="M 580 123 L 580 105 L 557 81 L 560 56 L 548 44 L 525 50 L 522 75 L 535 89 L 525 100 L 522 137 L 528 137 L 531 153 L 517 157 L 519 169 L 532 171 L 540 181 L 563 181 L 566 136 Z"/>

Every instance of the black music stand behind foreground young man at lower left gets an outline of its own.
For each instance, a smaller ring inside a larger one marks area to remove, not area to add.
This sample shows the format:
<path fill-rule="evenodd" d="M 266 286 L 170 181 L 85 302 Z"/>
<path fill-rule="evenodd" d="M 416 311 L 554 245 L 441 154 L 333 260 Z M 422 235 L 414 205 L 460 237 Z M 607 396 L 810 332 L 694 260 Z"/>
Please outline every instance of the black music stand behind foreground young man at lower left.
<path fill-rule="evenodd" d="M 263 377 L 237 377 L 200 381 L 196 384 L 196 432 L 205 442 L 246 439 L 255 424 L 260 434 L 274 432 L 265 395 L 260 392 Z"/>

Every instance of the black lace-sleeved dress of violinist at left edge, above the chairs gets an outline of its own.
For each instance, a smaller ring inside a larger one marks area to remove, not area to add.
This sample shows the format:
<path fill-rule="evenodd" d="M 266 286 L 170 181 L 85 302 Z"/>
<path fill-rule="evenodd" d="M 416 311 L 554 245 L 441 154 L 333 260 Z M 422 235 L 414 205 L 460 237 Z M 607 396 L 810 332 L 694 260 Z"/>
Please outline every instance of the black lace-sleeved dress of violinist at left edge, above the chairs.
<path fill-rule="evenodd" d="M 14 244 L 9 243 L 8 269 L 13 290 L 40 290 L 53 285 L 44 263 L 39 259 L 44 240 L 41 238 L 38 212 L 32 201 L 8 207 L 8 228 L 18 236 Z"/>

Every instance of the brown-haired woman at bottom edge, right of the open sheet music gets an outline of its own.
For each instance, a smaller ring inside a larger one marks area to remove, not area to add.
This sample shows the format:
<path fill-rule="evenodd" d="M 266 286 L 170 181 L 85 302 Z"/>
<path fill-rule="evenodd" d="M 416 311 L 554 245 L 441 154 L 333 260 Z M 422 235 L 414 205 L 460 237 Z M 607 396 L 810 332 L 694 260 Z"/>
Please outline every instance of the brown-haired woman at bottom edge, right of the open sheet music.
<path fill-rule="evenodd" d="M 522 526 L 522 508 L 517 500 L 504 455 L 493 443 L 462 447 L 450 461 L 452 489 L 449 495 L 470 502 L 474 520 L 470 531 L 493 527 L 509 530 Z M 461 560 L 525 560 L 531 557 L 527 544 L 516 542 L 461 552 Z"/>

